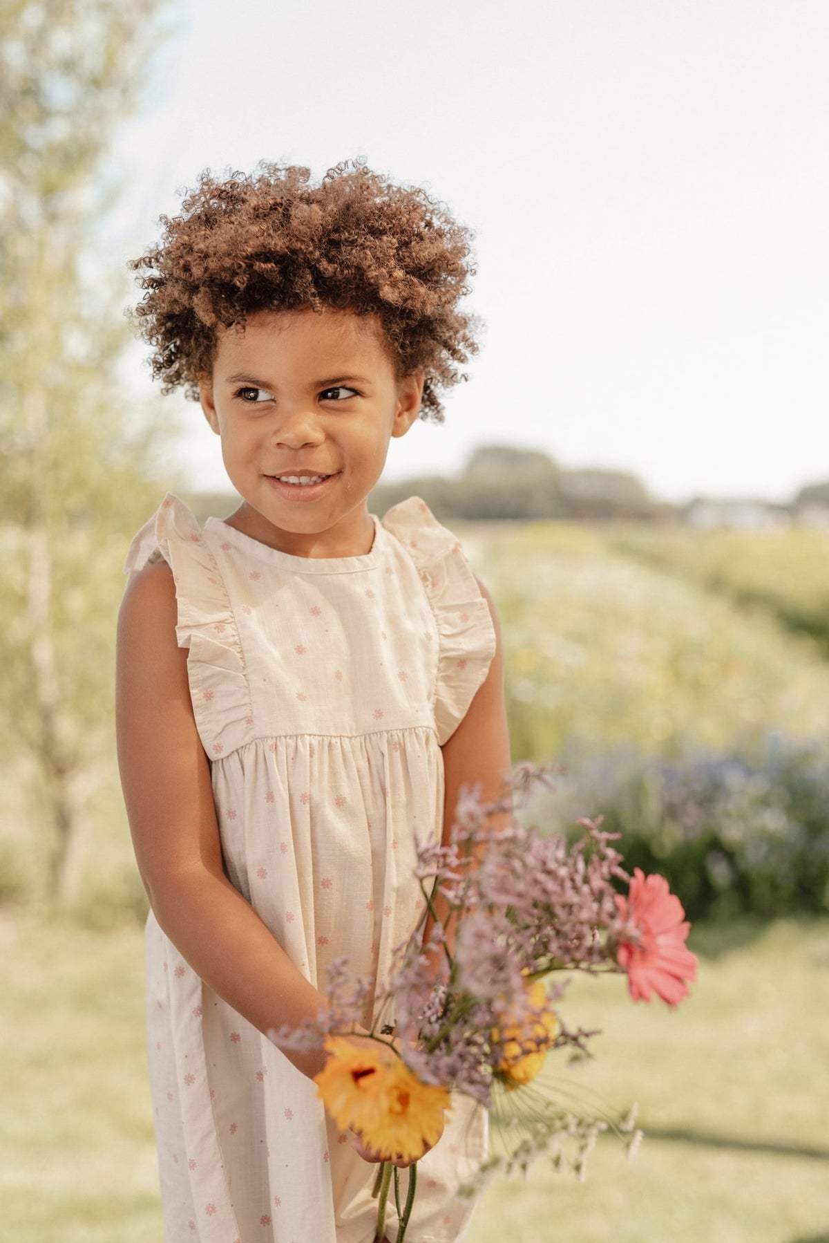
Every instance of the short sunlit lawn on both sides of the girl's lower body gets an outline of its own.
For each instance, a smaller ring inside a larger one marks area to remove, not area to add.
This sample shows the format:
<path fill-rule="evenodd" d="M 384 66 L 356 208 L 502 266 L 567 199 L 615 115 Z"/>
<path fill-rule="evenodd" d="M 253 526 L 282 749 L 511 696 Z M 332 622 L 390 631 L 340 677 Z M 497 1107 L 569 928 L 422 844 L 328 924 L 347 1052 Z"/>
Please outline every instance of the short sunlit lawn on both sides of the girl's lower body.
<path fill-rule="evenodd" d="M 584 1183 L 543 1162 L 493 1183 L 470 1243 L 829 1241 L 829 921 L 700 929 L 695 948 L 676 1013 L 631 1006 L 615 979 L 567 999 L 604 1035 L 588 1066 L 553 1065 L 558 1088 L 638 1100 L 636 1160 L 603 1137 Z M 2 1239 L 162 1243 L 140 952 L 134 925 L 0 919 Z"/>

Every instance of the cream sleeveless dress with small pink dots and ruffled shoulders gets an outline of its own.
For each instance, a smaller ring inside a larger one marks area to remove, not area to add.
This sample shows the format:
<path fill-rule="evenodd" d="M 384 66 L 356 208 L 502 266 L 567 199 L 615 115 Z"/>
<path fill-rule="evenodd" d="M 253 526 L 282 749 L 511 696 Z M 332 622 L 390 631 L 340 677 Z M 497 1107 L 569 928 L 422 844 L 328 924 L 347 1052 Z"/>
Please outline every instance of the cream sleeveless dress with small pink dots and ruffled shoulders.
<path fill-rule="evenodd" d="M 309 559 L 218 518 L 200 530 L 168 496 L 127 559 L 129 572 L 159 558 L 173 571 L 227 875 L 322 992 L 341 956 L 382 983 L 418 926 L 414 837 L 441 837 L 440 747 L 495 653 L 460 544 L 424 502 L 374 525 L 365 556 Z M 168 1243 L 372 1243 L 377 1166 L 316 1085 L 203 983 L 153 915 L 145 943 Z M 457 1188 L 485 1151 L 483 1111 L 455 1096 L 419 1163 L 410 1243 L 462 1238 L 471 1206 Z"/>

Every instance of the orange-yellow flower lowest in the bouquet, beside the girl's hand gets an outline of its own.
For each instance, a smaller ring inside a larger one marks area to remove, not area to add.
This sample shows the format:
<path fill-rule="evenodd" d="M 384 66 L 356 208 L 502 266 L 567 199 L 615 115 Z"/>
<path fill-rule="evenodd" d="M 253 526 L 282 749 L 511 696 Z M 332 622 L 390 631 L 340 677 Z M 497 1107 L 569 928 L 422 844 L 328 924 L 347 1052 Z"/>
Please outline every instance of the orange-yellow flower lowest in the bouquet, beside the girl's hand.
<path fill-rule="evenodd" d="M 421 1083 L 380 1043 L 358 1045 L 334 1035 L 326 1049 L 328 1059 L 314 1083 L 338 1126 L 357 1131 L 385 1157 L 416 1161 L 437 1142 L 450 1104 L 445 1088 Z"/>

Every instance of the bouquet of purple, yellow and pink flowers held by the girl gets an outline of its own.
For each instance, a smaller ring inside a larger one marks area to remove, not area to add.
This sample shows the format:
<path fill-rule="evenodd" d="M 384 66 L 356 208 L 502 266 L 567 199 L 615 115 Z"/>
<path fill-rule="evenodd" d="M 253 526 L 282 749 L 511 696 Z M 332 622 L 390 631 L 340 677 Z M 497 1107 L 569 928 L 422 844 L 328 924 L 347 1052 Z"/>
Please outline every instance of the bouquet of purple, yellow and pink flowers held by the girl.
<path fill-rule="evenodd" d="M 414 1161 L 405 1204 L 399 1168 L 379 1166 L 377 1243 L 385 1238 L 392 1180 L 396 1241 L 405 1238 L 416 1188 L 416 1160 L 442 1131 L 450 1090 L 490 1108 L 493 1094 L 527 1094 L 551 1050 L 585 1055 L 595 1032 L 569 1028 L 561 1001 L 567 973 L 625 972 L 634 1001 L 651 994 L 676 1006 L 696 975 L 685 941 L 689 925 L 662 876 L 630 876 L 600 820 L 580 820 L 572 845 L 542 835 L 513 814 L 516 802 L 549 774 L 522 766 L 510 800 L 461 796 L 449 845 L 420 845 L 418 878 L 426 901 L 425 930 L 399 947 L 380 997 L 339 960 L 329 978 L 329 1009 L 302 1032 L 273 1033 L 282 1047 L 324 1040 L 328 1059 L 317 1085 L 328 1112 L 377 1154 Z M 559 977 L 563 975 L 563 981 Z M 357 1016 L 374 1001 L 370 1039 L 355 1042 Z M 507 1168 L 526 1168 L 563 1135 L 577 1141 L 578 1162 L 603 1124 L 554 1103 L 539 1108 L 510 1154 Z M 620 1130 L 638 1139 L 633 1116 Z M 503 1165 L 487 1162 L 487 1171 Z"/>

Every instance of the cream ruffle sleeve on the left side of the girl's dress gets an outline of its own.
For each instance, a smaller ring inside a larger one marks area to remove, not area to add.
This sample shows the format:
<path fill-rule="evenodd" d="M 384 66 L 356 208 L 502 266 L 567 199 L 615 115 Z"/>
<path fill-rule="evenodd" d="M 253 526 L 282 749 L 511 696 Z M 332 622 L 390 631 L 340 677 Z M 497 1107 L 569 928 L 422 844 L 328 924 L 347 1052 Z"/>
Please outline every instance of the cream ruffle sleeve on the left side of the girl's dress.
<path fill-rule="evenodd" d="M 157 561 L 173 571 L 179 648 L 188 648 L 193 712 L 204 750 L 219 759 L 254 736 L 245 655 L 227 590 L 205 536 L 178 496 L 168 493 L 133 539 L 126 572 Z"/>

